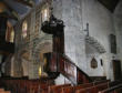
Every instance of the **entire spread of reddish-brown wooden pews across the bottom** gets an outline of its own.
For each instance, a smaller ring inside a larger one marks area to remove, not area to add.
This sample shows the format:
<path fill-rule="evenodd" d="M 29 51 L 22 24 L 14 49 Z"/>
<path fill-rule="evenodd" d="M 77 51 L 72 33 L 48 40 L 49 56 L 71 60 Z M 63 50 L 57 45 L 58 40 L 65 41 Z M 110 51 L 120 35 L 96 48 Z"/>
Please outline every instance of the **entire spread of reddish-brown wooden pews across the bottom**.
<path fill-rule="evenodd" d="M 40 80 L 0 80 L 0 86 L 11 93 L 122 93 L 122 81 L 95 81 L 72 85 L 54 85 L 52 81 Z"/>

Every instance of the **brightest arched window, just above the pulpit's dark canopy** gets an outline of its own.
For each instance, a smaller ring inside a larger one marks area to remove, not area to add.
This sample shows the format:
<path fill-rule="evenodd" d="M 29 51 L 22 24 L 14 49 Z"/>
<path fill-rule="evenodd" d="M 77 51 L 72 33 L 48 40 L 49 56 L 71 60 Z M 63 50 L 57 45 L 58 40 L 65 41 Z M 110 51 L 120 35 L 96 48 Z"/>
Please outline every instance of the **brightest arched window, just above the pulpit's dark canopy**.
<path fill-rule="evenodd" d="M 42 22 L 49 20 L 49 7 L 42 8 L 41 17 L 42 17 Z"/>

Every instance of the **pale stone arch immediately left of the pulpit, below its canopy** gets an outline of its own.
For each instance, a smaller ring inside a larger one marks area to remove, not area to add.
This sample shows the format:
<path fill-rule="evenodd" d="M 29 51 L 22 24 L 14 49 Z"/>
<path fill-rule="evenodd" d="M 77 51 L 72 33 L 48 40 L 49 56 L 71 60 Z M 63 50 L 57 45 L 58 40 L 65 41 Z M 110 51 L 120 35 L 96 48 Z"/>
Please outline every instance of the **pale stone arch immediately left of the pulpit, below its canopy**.
<path fill-rule="evenodd" d="M 34 70 L 34 75 L 38 78 L 38 72 L 40 66 L 42 68 L 42 75 L 43 73 L 43 53 L 52 52 L 52 40 L 44 40 L 41 42 L 38 42 L 35 48 L 33 48 L 33 65 L 35 66 Z"/>

